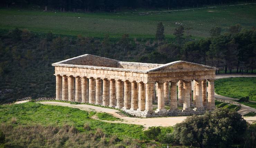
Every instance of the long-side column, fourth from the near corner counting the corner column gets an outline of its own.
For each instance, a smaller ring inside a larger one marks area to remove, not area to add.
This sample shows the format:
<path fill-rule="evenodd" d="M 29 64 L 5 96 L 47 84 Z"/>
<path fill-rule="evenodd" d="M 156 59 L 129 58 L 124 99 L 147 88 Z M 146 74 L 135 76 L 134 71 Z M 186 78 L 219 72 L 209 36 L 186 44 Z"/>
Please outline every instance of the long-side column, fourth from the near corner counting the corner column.
<path fill-rule="evenodd" d="M 123 109 L 131 108 L 131 83 L 129 81 L 124 82 L 124 107 Z"/>

